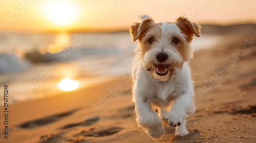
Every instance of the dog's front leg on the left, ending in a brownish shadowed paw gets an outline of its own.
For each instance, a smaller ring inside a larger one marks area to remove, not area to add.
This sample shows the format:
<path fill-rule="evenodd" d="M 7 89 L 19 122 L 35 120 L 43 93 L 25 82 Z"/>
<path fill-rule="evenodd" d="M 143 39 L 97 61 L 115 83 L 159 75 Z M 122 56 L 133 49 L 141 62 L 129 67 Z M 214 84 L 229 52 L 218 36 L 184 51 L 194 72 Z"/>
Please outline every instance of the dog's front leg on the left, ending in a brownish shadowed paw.
<path fill-rule="evenodd" d="M 143 95 L 135 96 L 136 121 L 153 138 L 161 138 L 164 133 L 163 123 L 152 109 L 150 101 Z"/>

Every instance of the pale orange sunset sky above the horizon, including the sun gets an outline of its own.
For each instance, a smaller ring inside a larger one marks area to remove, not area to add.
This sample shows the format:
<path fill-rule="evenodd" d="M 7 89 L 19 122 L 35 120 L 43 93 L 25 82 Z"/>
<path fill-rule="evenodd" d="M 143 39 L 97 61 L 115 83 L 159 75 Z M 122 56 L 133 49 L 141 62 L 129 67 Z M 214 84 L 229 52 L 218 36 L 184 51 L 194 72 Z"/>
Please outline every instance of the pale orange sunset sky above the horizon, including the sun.
<path fill-rule="evenodd" d="M 141 15 L 156 22 L 185 15 L 201 24 L 256 23 L 256 1 L 247 0 L 0 0 L 0 31 L 127 30 Z"/>

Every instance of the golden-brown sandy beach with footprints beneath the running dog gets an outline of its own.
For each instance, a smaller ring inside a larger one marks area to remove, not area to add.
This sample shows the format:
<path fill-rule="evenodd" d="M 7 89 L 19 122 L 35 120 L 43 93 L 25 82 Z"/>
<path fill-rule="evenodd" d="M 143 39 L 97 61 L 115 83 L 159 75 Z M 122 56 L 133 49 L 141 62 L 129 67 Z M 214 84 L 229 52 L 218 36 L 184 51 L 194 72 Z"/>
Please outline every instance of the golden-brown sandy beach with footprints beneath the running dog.
<path fill-rule="evenodd" d="M 186 136 L 174 136 L 165 123 L 164 136 L 154 140 L 137 127 L 127 75 L 12 104 L 9 136 L 1 133 L 0 142 L 256 142 L 255 35 L 225 34 L 218 46 L 194 57 L 197 111 L 187 120 Z"/>

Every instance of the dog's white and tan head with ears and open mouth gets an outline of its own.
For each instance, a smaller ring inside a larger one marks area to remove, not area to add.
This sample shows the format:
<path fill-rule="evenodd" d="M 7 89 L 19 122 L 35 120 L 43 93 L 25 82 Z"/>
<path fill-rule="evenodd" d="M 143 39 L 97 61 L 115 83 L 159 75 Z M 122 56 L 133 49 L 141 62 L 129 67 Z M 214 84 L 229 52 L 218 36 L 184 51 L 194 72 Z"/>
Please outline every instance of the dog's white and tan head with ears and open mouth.
<path fill-rule="evenodd" d="M 134 23 L 130 33 L 133 41 L 139 41 L 135 53 L 141 65 L 154 79 L 167 81 L 184 62 L 193 58 L 189 44 L 194 34 L 200 37 L 200 30 L 200 25 L 184 17 L 174 23 L 155 23 L 152 18 L 146 18 Z"/>

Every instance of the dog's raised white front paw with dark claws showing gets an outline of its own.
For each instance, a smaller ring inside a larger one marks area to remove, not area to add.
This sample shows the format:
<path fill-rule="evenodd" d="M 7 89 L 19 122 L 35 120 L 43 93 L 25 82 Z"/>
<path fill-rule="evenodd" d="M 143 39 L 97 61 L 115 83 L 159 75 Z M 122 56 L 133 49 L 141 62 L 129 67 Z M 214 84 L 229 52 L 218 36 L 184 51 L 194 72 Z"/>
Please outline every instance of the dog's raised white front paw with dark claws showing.
<path fill-rule="evenodd" d="M 169 115 L 166 116 L 165 121 L 170 126 L 177 127 L 177 126 L 180 126 L 182 124 L 184 119 L 185 119 L 185 117 L 183 117 L 180 114 L 169 114 Z"/>

